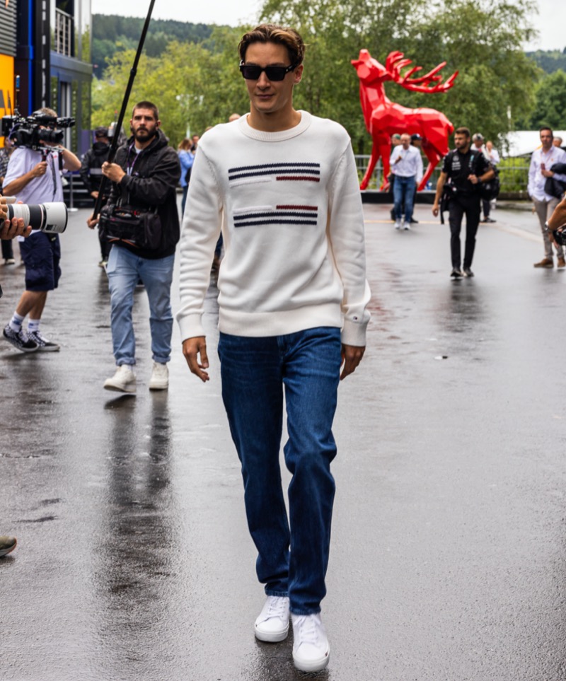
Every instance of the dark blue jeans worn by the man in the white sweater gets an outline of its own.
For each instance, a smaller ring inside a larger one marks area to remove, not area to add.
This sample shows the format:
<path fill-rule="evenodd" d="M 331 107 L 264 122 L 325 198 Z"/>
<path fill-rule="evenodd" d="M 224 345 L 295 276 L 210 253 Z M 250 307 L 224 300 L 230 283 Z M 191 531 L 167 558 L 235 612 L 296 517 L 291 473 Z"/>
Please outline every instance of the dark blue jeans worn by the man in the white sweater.
<path fill-rule="evenodd" d="M 289 595 L 291 612 L 320 612 L 326 594 L 336 455 L 332 422 L 340 330 L 323 327 L 263 338 L 220 334 L 222 398 L 242 465 L 256 571 L 267 595 Z M 285 508 L 279 447 L 283 392 L 289 440 Z"/>

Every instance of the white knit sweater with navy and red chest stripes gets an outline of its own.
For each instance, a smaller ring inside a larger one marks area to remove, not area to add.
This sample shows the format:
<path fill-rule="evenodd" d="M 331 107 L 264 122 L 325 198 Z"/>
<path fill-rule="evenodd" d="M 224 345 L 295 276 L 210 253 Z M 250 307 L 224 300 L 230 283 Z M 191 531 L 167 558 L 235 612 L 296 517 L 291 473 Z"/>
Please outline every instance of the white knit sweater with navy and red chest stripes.
<path fill-rule="evenodd" d="M 263 337 L 341 327 L 343 343 L 365 345 L 364 217 L 339 124 L 303 111 L 296 127 L 261 132 L 244 116 L 202 136 L 180 240 L 183 340 L 204 336 L 220 231 L 219 330 Z"/>

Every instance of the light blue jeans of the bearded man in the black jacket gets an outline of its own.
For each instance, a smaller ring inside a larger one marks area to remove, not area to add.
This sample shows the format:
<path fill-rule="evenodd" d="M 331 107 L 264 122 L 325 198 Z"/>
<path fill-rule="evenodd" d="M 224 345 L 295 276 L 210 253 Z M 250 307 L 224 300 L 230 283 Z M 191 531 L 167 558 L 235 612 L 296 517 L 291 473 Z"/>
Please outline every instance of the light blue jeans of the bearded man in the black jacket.
<path fill-rule="evenodd" d="M 139 279 L 144 282 L 149 298 L 152 357 L 161 364 L 171 359 L 171 279 L 174 261 L 175 255 L 149 260 L 122 246 L 112 246 L 106 273 L 110 288 L 112 345 L 118 366 L 136 363 L 132 308 L 134 289 Z"/>

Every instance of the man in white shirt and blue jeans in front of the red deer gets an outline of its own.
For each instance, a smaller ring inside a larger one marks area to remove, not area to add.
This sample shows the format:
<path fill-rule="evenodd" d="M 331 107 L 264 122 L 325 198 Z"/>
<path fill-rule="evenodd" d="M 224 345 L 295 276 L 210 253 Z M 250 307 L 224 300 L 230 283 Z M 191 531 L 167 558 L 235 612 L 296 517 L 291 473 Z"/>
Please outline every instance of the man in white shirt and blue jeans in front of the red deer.
<path fill-rule="evenodd" d="M 400 229 L 403 224 L 403 229 L 410 230 L 415 187 L 422 180 L 422 158 L 417 147 L 411 146 L 411 136 L 406 132 L 401 135 L 401 144 L 393 149 L 389 163 L 391 173 L 395 175 L 393 184 L 395 229 Z"/>

